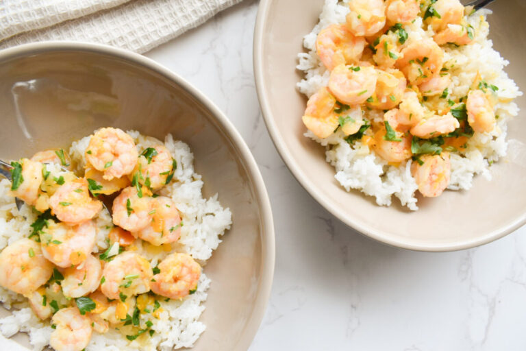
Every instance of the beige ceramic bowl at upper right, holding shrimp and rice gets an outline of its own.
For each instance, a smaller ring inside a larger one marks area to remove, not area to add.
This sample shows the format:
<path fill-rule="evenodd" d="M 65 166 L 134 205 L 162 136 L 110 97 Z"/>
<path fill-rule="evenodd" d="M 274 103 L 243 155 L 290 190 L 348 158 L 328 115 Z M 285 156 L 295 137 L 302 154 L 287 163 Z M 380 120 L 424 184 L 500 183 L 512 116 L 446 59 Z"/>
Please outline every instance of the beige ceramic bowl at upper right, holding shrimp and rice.
<path fill-rule="evenodd" d="M 355 230 L 390 245 L 423 251 L 474 247 L 503 237 L 526 223 L 526 119 L 509 124 L 508 157 L 491 168 L 493 180 L 477 177 L 470 191 L 419 198 L 412 213 L 399 205 L 380 207 L 373 197 L 347 193 L 325 162 L 325 149 L 303 136 L 306 99 L 296 89 L 302 39 L 312 31 L 323 0 L 262 0 L 255 25 L 254 71 L 266 126 L 290 171 L 314 199 Z M 510 60 L 506 71 L 526 88 L 526 3 L 496 1 L 490 37 Z M 516 100 L 526 110 L 526 99 Z M 522 113 L 524 114 L 524 113 Z M 395 201 L 395 204 L 397 202 Z M 399 202 L 398 202 L 399 204 Z"/>

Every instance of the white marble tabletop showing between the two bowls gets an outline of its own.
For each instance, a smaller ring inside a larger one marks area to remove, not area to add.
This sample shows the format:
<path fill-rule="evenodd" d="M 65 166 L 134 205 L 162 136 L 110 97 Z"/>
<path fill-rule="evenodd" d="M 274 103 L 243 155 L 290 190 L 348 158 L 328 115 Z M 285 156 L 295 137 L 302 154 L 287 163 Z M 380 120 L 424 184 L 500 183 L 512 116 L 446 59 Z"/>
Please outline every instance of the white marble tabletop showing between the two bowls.
<path fill-rule="evenodd" d="M 347 228 L 292 177 L 255 93 L 257 5 L 245 0 L 147 53 L 227 114 L 266 182 L 275 279 L 250 350 L 526 350 L 526 227 L 462 252 L 399 250 Z"/>

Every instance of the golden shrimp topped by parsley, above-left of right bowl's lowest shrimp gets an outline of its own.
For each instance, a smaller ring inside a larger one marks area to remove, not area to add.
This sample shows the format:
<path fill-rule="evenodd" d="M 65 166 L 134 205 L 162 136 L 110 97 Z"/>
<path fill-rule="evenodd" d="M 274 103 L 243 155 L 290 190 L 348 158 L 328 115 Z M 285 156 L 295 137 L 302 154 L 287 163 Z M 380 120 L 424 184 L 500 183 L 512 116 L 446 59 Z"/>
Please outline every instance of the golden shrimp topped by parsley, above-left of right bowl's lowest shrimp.
<path fill-rule="evenodd" d="M 386 140 L 386 127 L 381 125 L 381 128 L 375 132 L 375 146 L 374 150 L 381 158 L 387 162 L 403 162 L 411 157 L 411 136 L 396 132 L 396 137 L 400 141 Z"/>

